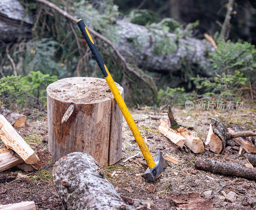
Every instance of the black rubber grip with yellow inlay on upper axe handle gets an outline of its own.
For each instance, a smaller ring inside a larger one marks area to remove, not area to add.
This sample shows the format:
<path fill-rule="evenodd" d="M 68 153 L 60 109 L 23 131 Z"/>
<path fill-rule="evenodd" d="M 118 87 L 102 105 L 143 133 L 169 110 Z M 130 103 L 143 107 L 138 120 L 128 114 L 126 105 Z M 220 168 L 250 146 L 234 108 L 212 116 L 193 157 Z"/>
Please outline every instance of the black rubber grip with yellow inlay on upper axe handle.
<path fill-rule="evenodd" d="M 97 47 L 95 46 L 95 44 L 92 42 L 92 37 L 90 39 L 89 35 L 87 34 L 85 28 L 85 24 L 84 24 L 84 21 L 82 19 L 79 19 L 77 20 L 77 25 L 78 27 L 80 28 L 80 31 L 82 32 L 83 36 L 84 36 L 84 39 L 86 41 L 86 43 L 88 44 L 88 47 L 90 48 L 90 50 L 92 51 L 92 55 L 94 57 L 94 59 L 96 60 L 97 64 L 99 65 L 100 67 L 100 70 L 103 74 L 104 77 L 107 77 L 108 76 L 108 73 L 105 69 L 105 63 L 102 59 L 102 57 L 100 56 L 100 53 L 99 53 L 99 50 L 97 49 Z M 86 28 L 87 29 L 87 28 Z M 88 32 L 89 33 L 89 32 Z M 91 35 L 90 35 L 91 36 Z"/>

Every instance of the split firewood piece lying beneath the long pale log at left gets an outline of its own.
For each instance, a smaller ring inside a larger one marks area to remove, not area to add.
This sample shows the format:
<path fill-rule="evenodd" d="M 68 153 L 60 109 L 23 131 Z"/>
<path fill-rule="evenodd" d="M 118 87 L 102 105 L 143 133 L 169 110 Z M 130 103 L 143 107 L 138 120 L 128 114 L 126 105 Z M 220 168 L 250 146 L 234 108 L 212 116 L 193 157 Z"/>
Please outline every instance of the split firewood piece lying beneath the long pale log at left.
<path fill-rule="evenodd" d="M 10 153 L 10 149 L 4 147 L 0 149 L 0 172 L 10 169 L 24 162 L 21 158 L 16 157 Z"/>

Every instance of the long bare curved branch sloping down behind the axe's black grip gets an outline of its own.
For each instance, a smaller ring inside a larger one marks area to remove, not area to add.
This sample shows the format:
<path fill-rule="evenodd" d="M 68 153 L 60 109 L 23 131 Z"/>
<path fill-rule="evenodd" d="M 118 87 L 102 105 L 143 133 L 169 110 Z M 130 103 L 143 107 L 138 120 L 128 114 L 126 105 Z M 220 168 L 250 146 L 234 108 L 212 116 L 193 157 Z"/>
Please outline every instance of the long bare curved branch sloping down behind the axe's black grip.
<path fill-rule="evenodd" d="M 64 17 L 66 17 L 67 19 L 76 22 L 76 18 L 70 14 L 68 14 L 66 11 L 60 9 L 58 6 L 56 6 L 55 4 L 52 4 L 51 2 L 47 1 L 47 0 L 35 0 L 36 2 L 40 2 L 45 4 L 46 6 L 58 11 L 61 15 L 63 15 Z M 124 56 L 121 55 L 121 53 L 119 52 L 119 50 L 114 46 L 113 42 L 110 41 L 108 38 L 106 38 L 105 36 L 102 36 L 101 34 L 99 34 L 98 32 L 94 31 L 91 27 L 86 26 L 88 31 L 93 34 L 94 36 L 98 37 L 99 39 L 101 39 L 102 41 L 106 42 L 116 53 L 116 56 L 119 58 L 119 60 L 121 61 L 123 67 L 125 69 L 127 69 L 130 73 L 132 73 L 133 75 L 135 75 L 137 78 L 139 78 L 140 80 L 142 80 L 144 83 L 146 83 L 148 85 L 148 87 L 151 89 L 151 91 L 153 92 L 154 96 L 157 95 L 157 87 L 156 84 L 153 80 L 152 77 L 150 77 L 149 75 L 145 74 L 142 70 L 138 69 L 138 68 L 134 68 L 128 65 L 128 63 L 126 62 Z"/>

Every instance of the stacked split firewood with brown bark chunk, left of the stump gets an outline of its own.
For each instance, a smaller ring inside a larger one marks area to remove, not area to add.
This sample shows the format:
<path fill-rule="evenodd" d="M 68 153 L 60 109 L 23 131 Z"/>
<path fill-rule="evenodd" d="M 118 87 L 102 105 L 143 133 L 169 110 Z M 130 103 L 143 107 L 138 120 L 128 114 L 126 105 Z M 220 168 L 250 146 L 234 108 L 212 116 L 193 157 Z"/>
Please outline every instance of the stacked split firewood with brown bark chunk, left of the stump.
<path fill-rule="evenodd" d="M 0 149 L 0 172 L 21 163 L 21 169 L 27 169 L 30 165 L 38 170 L 51 158 L 46 150 L 35 152 L 31 149 L 3 115 L 0 115 L 0 138 L 5 144 Z"/>

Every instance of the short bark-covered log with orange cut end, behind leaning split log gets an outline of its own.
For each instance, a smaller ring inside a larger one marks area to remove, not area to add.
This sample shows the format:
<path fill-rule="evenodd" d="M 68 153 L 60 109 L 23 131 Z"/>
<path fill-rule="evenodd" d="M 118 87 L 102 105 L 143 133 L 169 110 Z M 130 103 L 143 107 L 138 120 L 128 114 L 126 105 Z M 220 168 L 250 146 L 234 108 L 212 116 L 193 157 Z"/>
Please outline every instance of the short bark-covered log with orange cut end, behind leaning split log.
<path fill-rule="evenodd" d="M 11 110 L 5 109 L 3 107 L 0 107 L 0 115 L 3 115 L 6 120 L 13 126 L 24 126 L 27 120 L 27 116 L 12 112 Z"/>

